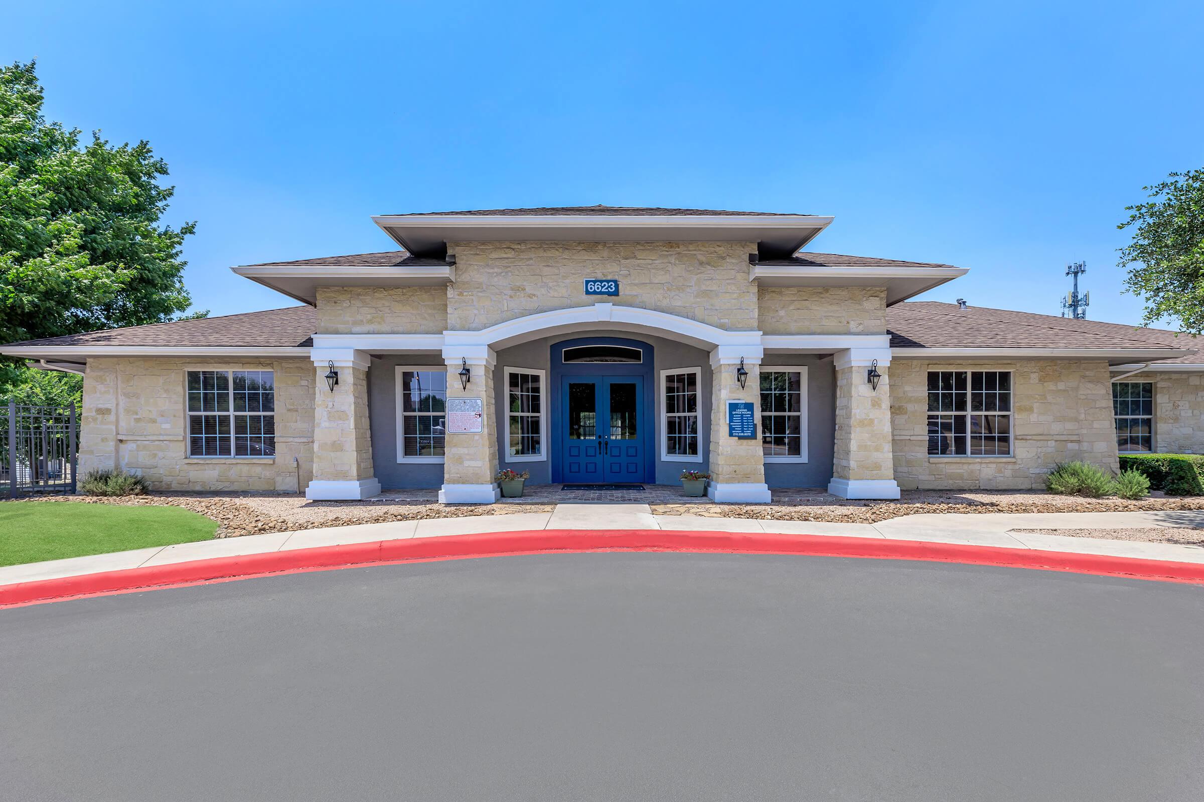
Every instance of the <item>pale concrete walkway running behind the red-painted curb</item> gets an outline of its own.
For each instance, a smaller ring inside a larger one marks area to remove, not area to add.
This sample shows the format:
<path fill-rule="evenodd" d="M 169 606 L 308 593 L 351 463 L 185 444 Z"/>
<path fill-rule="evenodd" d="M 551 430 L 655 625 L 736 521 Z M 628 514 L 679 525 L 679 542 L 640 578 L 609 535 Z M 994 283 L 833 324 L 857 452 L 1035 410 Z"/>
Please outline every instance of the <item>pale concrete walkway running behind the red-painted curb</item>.
<path fill-rule="evenodd" d="M 1204 547 L 1145 543 L 1128 540 L 1064 537 L 1013 533 L 1011 529 L 1125 529 L 1138 527 L 1204 528 L 1202 511 L 1158 512 L 1031 512 L 1031 513 L 933 513 L 891 518 L 877 524 L 713 518 L 707 516 L 653 515 L 647 504 L 560 504 L 553 512 L 517 512 L 465 518 L 431 518 L 368 523 L 354 527 L 303 529 L 271 535 L 247 535 L 202 540 L 159 548 L 72 557 L 46 563 L 0 568 L 0 586 L 124 569 L 187 563 L 213 557 L 241 557 L 318 546 L 368 543 L 409 537 L 438 537 L 490 531 L 532 529 L 666 529 L 677 531 L 746 531 L 789 535 L 844 535 L 943 543 L 967 543 L 1007 548 L 1106 554 L 1139 559 L 1204 563 Z"/>

